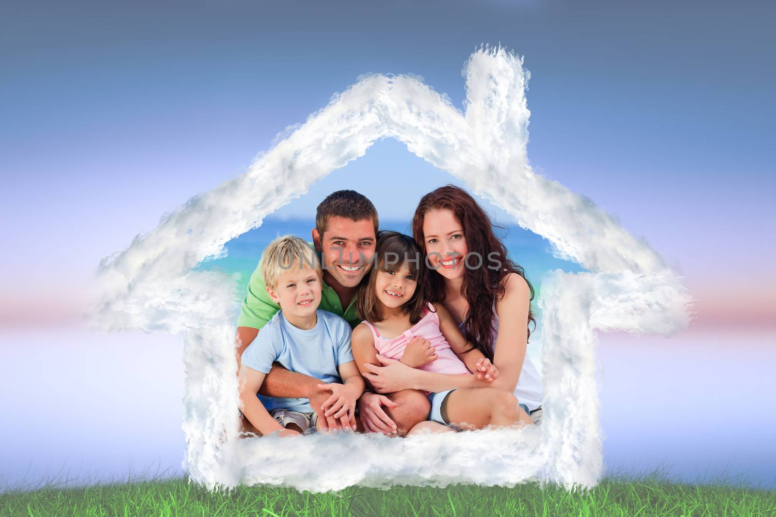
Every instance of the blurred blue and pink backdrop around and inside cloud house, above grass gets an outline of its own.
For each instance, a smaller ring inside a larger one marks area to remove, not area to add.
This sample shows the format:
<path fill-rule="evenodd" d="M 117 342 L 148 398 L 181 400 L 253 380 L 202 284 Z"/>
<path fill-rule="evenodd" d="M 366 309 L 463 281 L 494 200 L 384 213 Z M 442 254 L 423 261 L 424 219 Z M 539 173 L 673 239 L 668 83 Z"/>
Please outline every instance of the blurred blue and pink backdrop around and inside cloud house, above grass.
<path fill-rule="evenodd" d="M 182 474 L 182 338 L 85 333 L 99 261 L 361 74 L 421 75 L 463 109 L 481 43 L 525 56 L 535 171 L 644 236 L 697 300 L 670 338 L 599 336 L 608 468 L 776 486 L 774 18 L 750 2 L 3 5 L 0 486 Z M 408 232 L 449 182 L 466 188 L 380 141 L 200 267 L 244 285 L 341 188 Z M 480 202 L 539 291 L 583 271 Z"/>

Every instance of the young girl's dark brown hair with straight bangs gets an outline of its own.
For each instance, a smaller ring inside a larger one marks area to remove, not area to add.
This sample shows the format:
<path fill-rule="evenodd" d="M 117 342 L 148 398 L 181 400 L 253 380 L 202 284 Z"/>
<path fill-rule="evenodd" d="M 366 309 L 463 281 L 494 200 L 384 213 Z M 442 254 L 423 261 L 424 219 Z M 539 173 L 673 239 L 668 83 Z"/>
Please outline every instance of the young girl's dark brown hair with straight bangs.
<path fill-rule="evenodd" d="M 403 264 L 407 264 L 410 274 L 417 281 L 417 288 L 407 302 L 402 305 L 404 314 L 410 315 L 410 322 L 414 325 L 423 318 L 423 307 L 426 303 L 424 291 L 425 277 L 427 276 L 424 265 L 424 255 L 411 236 L 403 233 L 383 230 L 377 234 L 374 264 L 369 277 L 361 283 L 356 299 L 356 308 L 359 318 L 368 322 L 383 321 L 383 310 L 375 295 L 375 283 L 379 271 L 399 271 Z"/>

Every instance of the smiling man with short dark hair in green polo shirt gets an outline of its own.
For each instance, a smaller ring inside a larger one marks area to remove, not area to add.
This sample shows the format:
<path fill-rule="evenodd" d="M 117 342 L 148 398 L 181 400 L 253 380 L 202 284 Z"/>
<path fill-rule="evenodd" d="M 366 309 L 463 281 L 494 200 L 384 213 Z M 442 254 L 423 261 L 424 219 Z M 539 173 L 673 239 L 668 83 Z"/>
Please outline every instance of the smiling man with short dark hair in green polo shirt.
<path fill-rule="evenodd" d="M 341 316 L 351 328 L 361 322 L 355 295 L 362 278 L 372 267 L 377 229 L 377 210 L 369 199 L 356 191 L 333 192 L 317 207 L 311 245 L 320 253 L 324 271 L 319 308 Z M 280 306 L 272 301 L 262 281 L 262 262 L 259 260 L 237 319 L 238 369 L 244 350 L 279 310 Z M 268 397 L 309 398 L 324 429 L 342 429 L 340 421 L 321 411 L 320 405 L 332 392 L 318 388 L 318 384 L 320 380 L 314 377 L 288 371 L 275 363 L 259 393 Z M 428 398 L 421 391 L 404 390 L 389 395 L 365 391 L 359 399 L 359 430 L 363 429 L 363 420 L 367 420 L 372 429 L 404 436 L 428 417 L 429 410 Z M 257 433 L 247 419 L 243 419 L 243 426 Z"/>

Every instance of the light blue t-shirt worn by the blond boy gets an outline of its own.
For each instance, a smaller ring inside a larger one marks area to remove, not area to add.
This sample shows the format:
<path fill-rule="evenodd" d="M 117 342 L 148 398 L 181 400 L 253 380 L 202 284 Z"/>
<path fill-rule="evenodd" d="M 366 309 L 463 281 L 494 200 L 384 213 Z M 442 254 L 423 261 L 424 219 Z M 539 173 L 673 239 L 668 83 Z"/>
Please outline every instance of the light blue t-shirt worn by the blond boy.
<path fill-rule="evenodd" d="M 310 330 L 297 329 L 278 311 L 242 354 L 242 364 L 268 374 L 277 362 L 289 371 L 309 375 L 323 383 L 342 382 L 337 367 L 353 360 L 351 329 L 345 319 L 318 309 L 318 322 Z M 268 412 L 274 409 L 312 412 L 308 398 L 258 395 Z"/>

